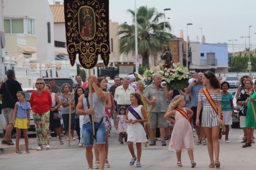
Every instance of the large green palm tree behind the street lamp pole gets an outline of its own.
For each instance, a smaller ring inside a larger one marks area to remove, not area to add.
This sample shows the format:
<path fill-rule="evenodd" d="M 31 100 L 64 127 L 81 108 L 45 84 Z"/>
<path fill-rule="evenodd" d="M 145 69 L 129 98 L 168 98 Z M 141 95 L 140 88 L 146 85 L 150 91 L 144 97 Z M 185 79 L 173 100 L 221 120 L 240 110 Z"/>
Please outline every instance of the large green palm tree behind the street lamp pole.
<path fill-rule="evenodd" d="M 132 14 L 133 22 L 135 14 L 133 10 L 128 10 Z M 165 32 L 164 22 L 159 20 L 164 17 L 163 13 L 158 13 L 156 8 L 140 6 L 137 10 L 137 30 L 138 30 L 138 54 L 142 56 L 142 65 L 149 66 L 149 56 L 157 55 L 163 50 L 162 44 L 169 44 L 172 34 Z M 171 30 L 170 24 L 166 22 L 166 29 Z M 120 52 L 128 54 L 135 52 L 135 27 L 123 23 L 120 25 Z"/>

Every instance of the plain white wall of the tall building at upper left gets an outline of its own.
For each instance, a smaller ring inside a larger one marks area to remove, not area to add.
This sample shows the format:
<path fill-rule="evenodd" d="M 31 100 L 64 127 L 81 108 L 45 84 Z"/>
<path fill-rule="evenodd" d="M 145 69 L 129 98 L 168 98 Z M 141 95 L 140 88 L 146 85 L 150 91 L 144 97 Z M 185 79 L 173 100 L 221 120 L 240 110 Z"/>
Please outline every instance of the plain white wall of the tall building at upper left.
<path fill-rule="evenodd" d="M 53 15 L 47 0 L 4 0 L 4 16 L 36 18 L 37 60 L 54 60 Z M 51 43 L 48 43 L 47 22 L 51 27 Z"/>

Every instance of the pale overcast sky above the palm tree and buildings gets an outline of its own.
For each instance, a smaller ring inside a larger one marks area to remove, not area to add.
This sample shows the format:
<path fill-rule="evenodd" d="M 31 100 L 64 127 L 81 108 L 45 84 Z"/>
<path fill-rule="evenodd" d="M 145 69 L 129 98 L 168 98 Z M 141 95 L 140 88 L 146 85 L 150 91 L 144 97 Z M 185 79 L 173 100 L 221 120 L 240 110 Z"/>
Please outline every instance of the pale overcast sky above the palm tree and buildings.
<path fill-rule="evenodd" d="M 52 4 L 53 0 L 48 2 Z M 109 6 L 113 22 L 132 24 L 132 16 L 127 10 L 135 9 L 134 0 L 110 0 Z M 249 37 L 249 25 L 252 25 L 250 44 L 252 49 L 256 48 L 256 0 L 136 0 L 136 8 L 140 6 L 154 7 L 162 13 L 165 8 L 171 8 L 165 15 L 166 21 L 170 21 L 172 34 L 179 37 L 182 29 L 186 40 L 186 24 L 192 23 L 188 26 L 190 41 L 197 41 L 198 37 L 201 42 L 202 30 L 206 43 L 228 43 L 228 52 L 231 53 L 232 41 L 228 40 L 237 39 L 234 52 L 243 51 L 245 39 L 240 37 Z M 249 39 L 246 38 L 247 48 L 248 45 Z"/>

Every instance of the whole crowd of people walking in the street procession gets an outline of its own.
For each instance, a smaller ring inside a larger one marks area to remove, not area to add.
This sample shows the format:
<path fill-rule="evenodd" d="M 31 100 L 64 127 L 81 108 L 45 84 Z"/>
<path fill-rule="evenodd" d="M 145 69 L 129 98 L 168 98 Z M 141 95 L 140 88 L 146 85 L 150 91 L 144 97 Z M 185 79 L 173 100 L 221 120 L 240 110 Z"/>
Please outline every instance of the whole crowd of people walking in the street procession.
<path fill-rule="evenodd" d="M 224 129 L 225 142 L 230 143 L 229 127 L 232 125 L 232 117 L 236 109 L 233 96 L 228 92 L 230 85 L 216 78 L 210 71 L 193 72 L 191 77 L 194 79 L 187 88 L 170 91 L 167 84 L 162 83 L 160 74 L 156 74 L 154 83 L 148 86 L 140 80 L 134 83 L 130 77 L 118 76 L 114 78 L 113 86 L 108 84 L 106 76 L 97 78 L 91 75 L 88 76 L 87 82 L 82 83 L 81 76 L 77 75 L 77 83 L 72 87 L 68 83 L 58 87 L 54 79 L 50 79 L 49 84 L 45 84 L 42 78 L 37 78 L 36 90 L 32 92 L 30 102 L 26 102 L 25 94 L 15 80 L 14 70 L 8 70 L 7 77 L 0 88 L 2 113 L 6 119 L 6 134 L 2 144 L 14 145 L 11 131 L 16 127 L 17 154 L 24 154 L 19 149 L 22 132 L 26 153 L 30 153 L 28 147 L 30 107 L 36 128 L 37 150 L 42 150 L 43 145 L 46 145 L 46 149 L 50 149 L 52 130 L 56 131 L 60 145 L 63 145 L 63 129 L 60 123 L 62 119 L 66 140 L 69 140 L 68 134 L 71 134 L 71 140 L 75 141 L 74 130 L 76 130 L 79 138 L 78 146 L 86 147 L 89 170 L 110 167 L 108 137 L 110 131 L 114 129 L 119 134 L 120 145 L 128 143 L 132 156 L 130 166 L 136 162 L 136 167 L 141 166 L 142 143 L 154 146 L 158 144 L 158 140 L 161 141 L 162 146 L 166 146 L 166 140 L 170 140 L 168 149 L 176 152 L 178 167 L 182 167 L 181 153 L 185 150 L 188 151 L 191 167 L 195 167 L 193 129 L 198 139 L 196 145 L 208 147 L 209 168 L 220 167 L 219 140 Z M 89 92 L 89 84 L 92 87 L 91 92 Z M 252 109 L 253 103 L 256 102 L 256 93 L 254 93 L 254 83 L 249 76 L 242 76 L 240 84 L 235 97 L 240 106 L 240 127 L 244 130 L 242 147 L 250 147 L 254 143 L 253 128 L 256 128 Z M 254 93 L 251 98 L 249 92 Z M 186 100 L 191 101 L 190 108 L 186 107 Z M 69 122 L 71 122 L 70 131 Z M 134 143 L 137 148 L 136 154 Z M 93 147 L 96 158 L 94 163 Z"/>

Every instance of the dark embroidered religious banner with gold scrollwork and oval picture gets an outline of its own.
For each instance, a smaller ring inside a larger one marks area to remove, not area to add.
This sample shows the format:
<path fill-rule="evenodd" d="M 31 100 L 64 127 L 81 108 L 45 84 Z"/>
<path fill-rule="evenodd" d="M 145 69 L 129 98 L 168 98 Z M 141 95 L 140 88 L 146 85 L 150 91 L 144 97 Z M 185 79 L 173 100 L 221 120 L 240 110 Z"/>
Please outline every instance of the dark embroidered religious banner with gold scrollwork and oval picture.
<path fill-rule="evenodd" d="M 109 62 L 109 0 L 64 0 L 66 43 L 73 66 L 78 54 L 83 68 L 93 68 L 101 55 Z"/>

